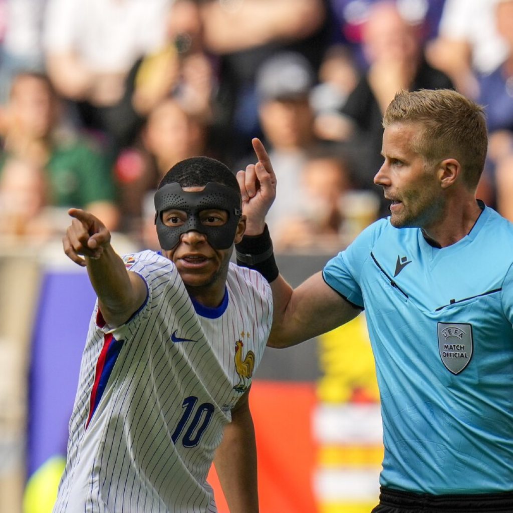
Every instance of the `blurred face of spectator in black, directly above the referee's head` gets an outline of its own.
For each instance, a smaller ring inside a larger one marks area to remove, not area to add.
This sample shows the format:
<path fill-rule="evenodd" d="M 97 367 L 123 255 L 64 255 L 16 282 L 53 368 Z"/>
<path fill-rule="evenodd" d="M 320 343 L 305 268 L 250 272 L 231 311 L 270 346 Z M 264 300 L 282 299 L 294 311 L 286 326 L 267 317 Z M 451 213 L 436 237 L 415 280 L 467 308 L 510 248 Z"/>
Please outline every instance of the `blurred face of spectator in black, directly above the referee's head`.
<path fill-rule="evenodd" d="M 418 58 L 420 41 L 416 28 L 406 23 L 389 2 L 371 8 L 363 39 L 371 63 L 383 60 L 407 62 Z"/>

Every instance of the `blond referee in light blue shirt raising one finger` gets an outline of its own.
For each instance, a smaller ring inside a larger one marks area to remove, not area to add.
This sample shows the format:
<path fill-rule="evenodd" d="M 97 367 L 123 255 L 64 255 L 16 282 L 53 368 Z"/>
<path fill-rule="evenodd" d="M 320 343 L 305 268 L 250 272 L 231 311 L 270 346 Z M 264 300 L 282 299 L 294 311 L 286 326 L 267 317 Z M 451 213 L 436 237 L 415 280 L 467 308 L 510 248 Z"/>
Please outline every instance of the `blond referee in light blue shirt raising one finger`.
<path fill-rule="evenodd" d="M 271 281 L 271 346 L 365 308 L 385 446 L 374 513 L 513 511 L 513 226 L 475 196 L 483 110 L 455 91 L 403 91 L 383 125 L 374 182 L 390 216 L 296 289 L 273 262 L 276 180 L 253 140 L 259 162 L 238 173 L 253 236 L 239 260 Z"/>

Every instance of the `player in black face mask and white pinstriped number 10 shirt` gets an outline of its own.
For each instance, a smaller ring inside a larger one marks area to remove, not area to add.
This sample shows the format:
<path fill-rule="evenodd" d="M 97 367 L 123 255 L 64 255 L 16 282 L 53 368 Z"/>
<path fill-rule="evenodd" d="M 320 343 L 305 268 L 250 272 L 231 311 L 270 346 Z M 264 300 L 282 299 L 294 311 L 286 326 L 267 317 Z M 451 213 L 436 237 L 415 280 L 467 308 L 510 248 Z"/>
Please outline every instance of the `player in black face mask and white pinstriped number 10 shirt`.
<path fill-rule="evenodd" d="M 155 210 L 162 251 L 123 259 L 98 219 L 69 211 L 64 251 L 98 300 L 54 511 L 215 512 L 215 455 L 230 511 L 257 513 L 248 393 L 272 297 L 230 262 L 246 224 L 239 185 L 224 164 L 187 159 L 162 179 Z"/>

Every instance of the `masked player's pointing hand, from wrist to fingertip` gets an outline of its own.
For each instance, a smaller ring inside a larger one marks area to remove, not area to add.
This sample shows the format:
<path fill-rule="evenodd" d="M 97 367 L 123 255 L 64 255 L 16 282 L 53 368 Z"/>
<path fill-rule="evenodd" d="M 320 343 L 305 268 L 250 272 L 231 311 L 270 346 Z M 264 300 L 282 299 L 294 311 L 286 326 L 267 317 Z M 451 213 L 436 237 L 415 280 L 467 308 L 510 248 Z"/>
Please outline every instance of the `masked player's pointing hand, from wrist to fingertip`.
<path fill-rule="evenodd" d="M 110 244 L 110 232 L 105 225 L 90 212 L 71 208 L 68 214 L 73 218 L 63 237 L 64 252 L 75 264 L 87 265 L 86 259 L 99 259 L 104 247 Z"/>

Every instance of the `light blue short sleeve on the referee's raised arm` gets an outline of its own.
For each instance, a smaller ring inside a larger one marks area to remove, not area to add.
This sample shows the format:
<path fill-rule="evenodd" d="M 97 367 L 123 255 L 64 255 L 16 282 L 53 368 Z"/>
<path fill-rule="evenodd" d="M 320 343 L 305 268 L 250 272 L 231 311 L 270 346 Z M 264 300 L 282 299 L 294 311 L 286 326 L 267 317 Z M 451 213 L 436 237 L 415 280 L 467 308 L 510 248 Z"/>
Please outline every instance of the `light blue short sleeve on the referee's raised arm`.
<path fill-rule="evenodd" d="M 362 270 L 370 258 L 374 242 L 387 224 L 388 220 L 385 219 L 371 224 L 323 269 L 324 281 L 348 301 L 361 308 L 365 307 L 360 286 Z"/>

